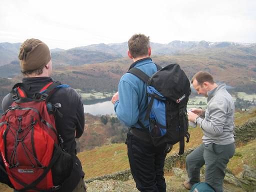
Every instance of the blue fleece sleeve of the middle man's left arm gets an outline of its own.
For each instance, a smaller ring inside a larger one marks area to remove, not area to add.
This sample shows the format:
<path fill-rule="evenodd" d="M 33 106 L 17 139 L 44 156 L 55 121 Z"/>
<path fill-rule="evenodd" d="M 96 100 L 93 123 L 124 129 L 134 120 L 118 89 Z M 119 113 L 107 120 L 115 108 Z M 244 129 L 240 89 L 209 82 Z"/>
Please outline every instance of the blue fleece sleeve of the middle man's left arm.
<path fill-rule="evenodd" d="M 134 125 L 138 120 L 138 94 L 132 86 L 121 80 L 118 85 L 119 100 L 114 103 L 117 118 L 127 126 Z"/>

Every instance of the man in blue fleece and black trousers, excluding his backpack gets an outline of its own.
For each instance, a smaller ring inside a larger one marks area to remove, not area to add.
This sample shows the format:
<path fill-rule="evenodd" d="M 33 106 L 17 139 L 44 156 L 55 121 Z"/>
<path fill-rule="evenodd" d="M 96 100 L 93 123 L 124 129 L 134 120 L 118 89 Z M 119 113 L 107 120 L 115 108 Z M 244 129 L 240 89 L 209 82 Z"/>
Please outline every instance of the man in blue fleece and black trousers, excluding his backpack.
<path fill-rule="evenodd" d="M 128 56 L 133 59 L 129 69 L 137 67 L 148 76 L 156 72 L 156 65 L 149 57 L 149 37 L 144 34 L 132 35 L 128 40 L 128 48 Z M 163 177 L 165 144 L 156 147 L 150 142 L 149 121 L 144 120 L 148 105 L 146 84 L 135 75 L 125 73 L 120 79 L 118 92 L 112 97 L 112 102 L 118 119 L 130 127 L 125 143 L 137 189 L 145 192 L 166 191 Z"/>

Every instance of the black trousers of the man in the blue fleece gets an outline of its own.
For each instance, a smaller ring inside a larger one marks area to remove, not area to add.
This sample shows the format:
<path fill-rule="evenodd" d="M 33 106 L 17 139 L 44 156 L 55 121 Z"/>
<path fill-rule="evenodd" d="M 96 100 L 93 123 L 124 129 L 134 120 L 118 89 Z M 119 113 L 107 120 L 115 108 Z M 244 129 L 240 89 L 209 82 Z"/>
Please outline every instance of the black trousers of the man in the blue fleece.
<path fill-rule="evenodd" d="M 127 151 L 131 174 L 136 187 L 142 192 L 165 192 L 163 166 L 166 153 L 163 146 L 154 146 L 127 133 Z"/>

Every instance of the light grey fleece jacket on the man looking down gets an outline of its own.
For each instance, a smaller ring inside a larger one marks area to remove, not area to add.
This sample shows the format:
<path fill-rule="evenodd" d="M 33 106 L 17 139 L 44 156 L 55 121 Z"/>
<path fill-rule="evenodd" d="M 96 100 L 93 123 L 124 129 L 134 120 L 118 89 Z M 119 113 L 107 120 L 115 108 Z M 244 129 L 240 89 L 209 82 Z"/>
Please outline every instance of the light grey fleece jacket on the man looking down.
<path fill-rule="evenodd" d="M 207 95 L 205 117 L 197 118 L 203 131 L 202 142 L 222 145 L 234 142 L 234 102 L 225 84 L 208 91 Z"/>

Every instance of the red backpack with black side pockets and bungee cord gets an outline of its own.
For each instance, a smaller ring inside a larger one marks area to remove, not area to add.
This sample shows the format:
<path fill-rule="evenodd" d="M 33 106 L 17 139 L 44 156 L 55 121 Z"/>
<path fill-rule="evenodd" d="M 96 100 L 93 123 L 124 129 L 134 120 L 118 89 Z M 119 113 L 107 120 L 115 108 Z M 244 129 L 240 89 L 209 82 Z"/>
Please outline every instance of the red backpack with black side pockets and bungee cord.
<path fill-rule="evenodd" d="M 62 149 L 55 127 L 60 104 L 51 104 L 48 98 L 56 88 L 68 85 L 50 82 L 33 98 L 26 97 L 25 86 L 13 86 L 13 102 L 0 119 L 0 169 L 18 191 L 54 191 L 70 175 L 73 161 Z"/>

